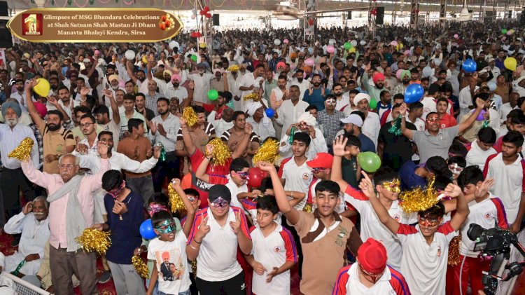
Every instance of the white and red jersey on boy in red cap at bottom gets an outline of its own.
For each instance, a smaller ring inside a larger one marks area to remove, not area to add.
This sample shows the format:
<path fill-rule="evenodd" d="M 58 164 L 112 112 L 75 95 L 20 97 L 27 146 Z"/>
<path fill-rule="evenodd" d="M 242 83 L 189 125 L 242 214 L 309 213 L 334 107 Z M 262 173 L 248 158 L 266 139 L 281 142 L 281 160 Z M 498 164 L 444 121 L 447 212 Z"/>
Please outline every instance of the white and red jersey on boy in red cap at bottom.
<path fill-rule="evenodd" d="M 387 266 L 383 275 L 374 286 L 368 288 L 360 283 L 358 263 L 353 263 L 339 270 L 332 295 L 410 295 L 405 277 L 397 270 Z M 430 294 L 428 294 L 430 295 Z"/>

